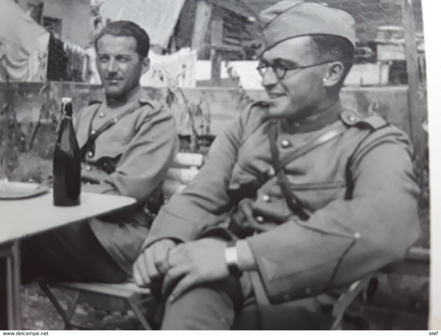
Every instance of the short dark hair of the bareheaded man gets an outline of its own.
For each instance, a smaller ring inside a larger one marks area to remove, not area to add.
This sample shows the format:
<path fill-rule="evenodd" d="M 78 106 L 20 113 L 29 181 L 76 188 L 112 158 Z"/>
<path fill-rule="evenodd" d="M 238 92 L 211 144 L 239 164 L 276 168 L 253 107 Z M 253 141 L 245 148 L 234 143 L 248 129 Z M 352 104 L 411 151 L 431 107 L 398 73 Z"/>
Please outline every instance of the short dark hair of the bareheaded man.
<path fill-rule="evenodd" d="M 143 59 L 147 57 L 150 49 L 149 35 L 138 26 L 135 22 L 131 21 L 114 21 L 107 24 L 101 33 L 95 39 L 95 48 L 97 48 L 98 40 L 104 35 L 112 36 L 131 36 L 136 40 L 136 52 Z"/>

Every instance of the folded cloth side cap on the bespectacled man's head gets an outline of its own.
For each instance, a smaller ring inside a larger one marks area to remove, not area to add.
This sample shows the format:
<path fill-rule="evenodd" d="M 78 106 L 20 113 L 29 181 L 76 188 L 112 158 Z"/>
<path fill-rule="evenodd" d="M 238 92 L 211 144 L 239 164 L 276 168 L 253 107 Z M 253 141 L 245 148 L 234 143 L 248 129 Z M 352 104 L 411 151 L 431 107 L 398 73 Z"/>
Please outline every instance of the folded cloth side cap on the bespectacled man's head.
<path fill-rule="evenodd" d="M 302 0 L 284 0 L 259 15 L 263 48 L 293 37 L 329 34 L 346 38 L 355 46 L 355 20 L 347 12 Z"/>

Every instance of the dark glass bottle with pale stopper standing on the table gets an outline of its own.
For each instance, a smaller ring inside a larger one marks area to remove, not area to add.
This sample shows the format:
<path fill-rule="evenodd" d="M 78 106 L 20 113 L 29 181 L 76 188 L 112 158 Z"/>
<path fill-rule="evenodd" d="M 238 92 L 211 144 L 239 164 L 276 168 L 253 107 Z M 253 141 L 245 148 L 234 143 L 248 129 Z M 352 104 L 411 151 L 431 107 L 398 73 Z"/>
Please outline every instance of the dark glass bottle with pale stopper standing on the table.
<path fill-rule="evenodd" d="M 53 159 L 54 205 L 70 207 L 80 203 L 81 154 L 72 123 L 72 99 L 62 98 L 62 119 Z"/>

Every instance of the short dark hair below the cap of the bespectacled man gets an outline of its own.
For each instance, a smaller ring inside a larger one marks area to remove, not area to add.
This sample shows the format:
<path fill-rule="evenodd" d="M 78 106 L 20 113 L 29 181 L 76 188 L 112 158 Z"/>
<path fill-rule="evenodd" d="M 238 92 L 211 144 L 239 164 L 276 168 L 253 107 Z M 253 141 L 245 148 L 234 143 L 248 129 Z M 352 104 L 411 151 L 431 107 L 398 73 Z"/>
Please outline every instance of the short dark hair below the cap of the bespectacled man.
<path fill-rule="evenodd" d="M 354 45 L 347 38 L 337 35 L 318 34 L 311 35 L 311 38 L 321 55 L 320 61 L 326 58 L 343 63 L 344 72 L 340 84 L 343 83 L 354 64 Z"/>

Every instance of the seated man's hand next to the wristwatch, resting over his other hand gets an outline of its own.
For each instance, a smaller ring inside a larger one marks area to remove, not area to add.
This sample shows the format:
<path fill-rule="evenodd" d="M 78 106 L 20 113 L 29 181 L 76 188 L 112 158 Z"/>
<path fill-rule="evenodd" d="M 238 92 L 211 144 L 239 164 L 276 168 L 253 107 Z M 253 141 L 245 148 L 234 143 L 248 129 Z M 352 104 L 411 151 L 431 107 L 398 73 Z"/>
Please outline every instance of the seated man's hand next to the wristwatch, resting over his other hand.
<path fill-rule="evenodd" d="M 196 284 L 228 277 L 226 246 L 225 241 L 206 238 L 173 247 L 168 255 L 169 269 L 162 292 L 168 292 L 176 284 L 169 295 L 169 300 L 174 301 Z"/>

